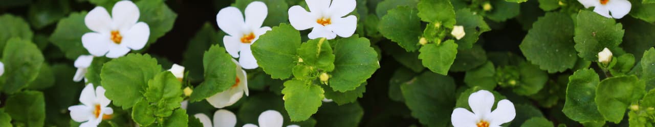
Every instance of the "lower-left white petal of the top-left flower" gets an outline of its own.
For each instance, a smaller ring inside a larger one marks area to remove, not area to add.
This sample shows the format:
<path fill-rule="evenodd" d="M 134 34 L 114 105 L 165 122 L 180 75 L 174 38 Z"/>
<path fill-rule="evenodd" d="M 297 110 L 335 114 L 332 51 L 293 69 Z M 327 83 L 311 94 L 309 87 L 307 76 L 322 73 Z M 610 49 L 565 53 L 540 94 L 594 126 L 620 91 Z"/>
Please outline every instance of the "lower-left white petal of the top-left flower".
<path fill-rule="evenodd" d="M 109 51 L 109 44 L 111 44 L 109 36 L 102 35 L 101 33 L 85 33 L 82 35 L 82 46 L 86 48 L 88 53 L 101 57 Z"/>

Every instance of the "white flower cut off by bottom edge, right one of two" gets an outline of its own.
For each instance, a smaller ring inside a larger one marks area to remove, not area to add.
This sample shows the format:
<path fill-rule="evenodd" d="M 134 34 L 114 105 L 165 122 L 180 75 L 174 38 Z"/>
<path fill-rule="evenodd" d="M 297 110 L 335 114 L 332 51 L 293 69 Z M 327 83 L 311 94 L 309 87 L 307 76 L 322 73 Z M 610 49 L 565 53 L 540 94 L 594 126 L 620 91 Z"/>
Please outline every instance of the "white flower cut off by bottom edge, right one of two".
<path fill-rule="evenodd" d="M 259 126 L 261 127 L 282 127 L 282 122 L 284 122 L 284 118 L 282 118 L 282 114 L 280 114 L 280 112 L 278 111 L 267 110 L 259 115 L 257 122 L 259 122 Z M 257 125 L 245 124 L 244 127 L 257 127 Z M 300 126 L 289 125 L 286 127 L 300 127 Z"/>

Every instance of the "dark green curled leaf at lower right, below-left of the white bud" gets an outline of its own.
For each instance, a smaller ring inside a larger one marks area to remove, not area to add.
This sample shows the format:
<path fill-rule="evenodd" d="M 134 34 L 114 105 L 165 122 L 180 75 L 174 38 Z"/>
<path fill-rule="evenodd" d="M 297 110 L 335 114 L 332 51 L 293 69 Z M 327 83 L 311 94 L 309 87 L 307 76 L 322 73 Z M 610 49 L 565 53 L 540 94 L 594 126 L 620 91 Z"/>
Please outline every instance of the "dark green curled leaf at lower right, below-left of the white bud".
<path fill-rule="evenodd" d="M 605 121 L 594 102 L 599 83 L 598 74 L 593 69 L 582 69 L 573 73 L 569 77 L 567 98 L 562 112 L 578 122 Z"/>

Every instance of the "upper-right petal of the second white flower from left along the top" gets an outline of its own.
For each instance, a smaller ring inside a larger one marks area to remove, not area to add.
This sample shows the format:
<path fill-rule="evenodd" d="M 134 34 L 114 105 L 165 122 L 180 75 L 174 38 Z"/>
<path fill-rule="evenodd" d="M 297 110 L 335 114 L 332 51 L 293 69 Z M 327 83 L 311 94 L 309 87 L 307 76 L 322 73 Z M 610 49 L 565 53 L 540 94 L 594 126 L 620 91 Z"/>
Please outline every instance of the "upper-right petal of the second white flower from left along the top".
<path fill-rule="evenodd" d="M 266 16 L 269 14 L 269 8 L 261 1 L 254 1 L 246 7 L 246 25 L 253 29 L 261 27 Z"/>

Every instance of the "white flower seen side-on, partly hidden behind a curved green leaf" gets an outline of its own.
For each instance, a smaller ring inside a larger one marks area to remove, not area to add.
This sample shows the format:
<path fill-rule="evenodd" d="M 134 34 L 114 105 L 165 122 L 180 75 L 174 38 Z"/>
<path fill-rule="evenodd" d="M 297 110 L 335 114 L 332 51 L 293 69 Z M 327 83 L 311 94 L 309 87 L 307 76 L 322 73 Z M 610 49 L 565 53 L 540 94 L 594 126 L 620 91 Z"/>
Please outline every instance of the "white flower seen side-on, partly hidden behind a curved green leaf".
<path fill-rule="evenodd" d="M 236 63 L 236 60 L 232 59 L 232 61 Z M 241 66 L 236 63 L 236 83 L 234 83 L 234 85 L 229 89 L 223 92 L 218 92 L 206 99 L 209 104 L 212 104 L 212 106 L 223 108 L 226 106 L 232 106 L 232 104 L 236 103 L 236 101 L 241 99 L 244 92 L 246 96 L 248 96 L 248 78 L 246 77 L 246 71 L 241 69 Z"/>

